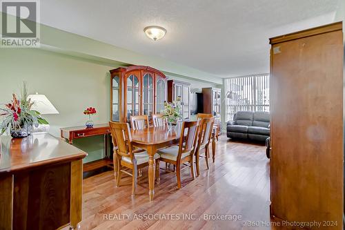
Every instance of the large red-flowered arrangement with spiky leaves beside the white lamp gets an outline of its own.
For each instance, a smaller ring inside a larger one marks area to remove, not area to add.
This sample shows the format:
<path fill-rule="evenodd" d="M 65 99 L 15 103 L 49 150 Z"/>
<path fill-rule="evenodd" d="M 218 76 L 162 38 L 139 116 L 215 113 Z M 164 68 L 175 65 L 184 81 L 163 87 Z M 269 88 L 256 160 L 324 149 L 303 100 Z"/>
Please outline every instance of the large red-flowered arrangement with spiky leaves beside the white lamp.
<path fill-rule="evenodd" d="M 5 104 L 5 108 L 0 108 L 0 116 L 4 116 L 0 124 L 0 135 L 10 130 L 12 137 L 27 137 L 32 132 L 33 126 L 48 124 L 38 111 L 31 109 L 34 103 L 27 98 L 28 87 L 24 82 L 21 97 L 17 99 L 17 95 L 13 93 L 12 102 Z"/>

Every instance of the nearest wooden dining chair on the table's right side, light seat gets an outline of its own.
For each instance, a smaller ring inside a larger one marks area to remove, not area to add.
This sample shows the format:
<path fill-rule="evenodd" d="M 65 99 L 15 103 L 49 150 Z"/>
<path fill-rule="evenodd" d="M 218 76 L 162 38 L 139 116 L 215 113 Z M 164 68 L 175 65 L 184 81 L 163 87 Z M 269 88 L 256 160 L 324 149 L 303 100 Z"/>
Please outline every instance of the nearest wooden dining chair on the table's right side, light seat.
<path fill-rule="evenodd" d="M 177 187 L 181 188 L 181 165 L 188 162 L 190 167 L 190 174 L 193 180 L 194 173 L 194 154 L 197 148 L 197 133 L 199 131 L 200 121 L 197 122 L 183 122 L 178 146 L 170 146 L 168 148 L 157 151 L 161 158 L 160 161 L 173 164 L 176 166 Z M 186 135 L 184 135 L 186 134 Z M 186 167 L 184 168 L 186 169 Z M 175 171 L 168 172 L 175 173 Z"/>

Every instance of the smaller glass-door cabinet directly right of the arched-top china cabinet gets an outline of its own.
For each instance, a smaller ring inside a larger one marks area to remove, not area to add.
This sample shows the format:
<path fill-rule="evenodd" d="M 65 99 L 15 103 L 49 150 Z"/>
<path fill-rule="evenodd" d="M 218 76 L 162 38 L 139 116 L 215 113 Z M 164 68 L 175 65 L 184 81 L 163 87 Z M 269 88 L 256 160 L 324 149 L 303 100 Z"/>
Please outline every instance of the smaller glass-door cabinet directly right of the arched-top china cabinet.
<path fill-rule="evenodd" d="M 176 101 L 181 97 L 182 118 L 190 117 L 190 83 L 177 80 L 168 81 L 168 102 Z"/>

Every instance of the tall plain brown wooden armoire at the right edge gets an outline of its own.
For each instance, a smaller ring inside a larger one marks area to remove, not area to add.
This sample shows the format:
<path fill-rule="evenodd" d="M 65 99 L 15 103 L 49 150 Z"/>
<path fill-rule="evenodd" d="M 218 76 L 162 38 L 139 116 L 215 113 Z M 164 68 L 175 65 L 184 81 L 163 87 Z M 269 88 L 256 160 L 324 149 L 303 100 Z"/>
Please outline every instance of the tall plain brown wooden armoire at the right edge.
<path fill-rule="evenodd" d="M 270 44 L 270 214 L 342 229 L 342 23 Z"/>

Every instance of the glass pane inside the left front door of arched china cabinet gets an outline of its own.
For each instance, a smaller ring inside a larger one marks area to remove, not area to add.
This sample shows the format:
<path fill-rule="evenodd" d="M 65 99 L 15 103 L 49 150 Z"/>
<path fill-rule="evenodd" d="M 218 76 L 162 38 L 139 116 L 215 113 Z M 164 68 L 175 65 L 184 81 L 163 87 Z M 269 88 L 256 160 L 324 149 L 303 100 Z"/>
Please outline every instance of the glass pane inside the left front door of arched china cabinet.
<path fill-rule="evenodd" d="M 139 79 L 132 74 L 127 77 L 127 121 L 133 115 L 139 115 Z"/>

